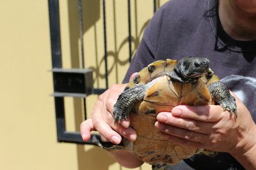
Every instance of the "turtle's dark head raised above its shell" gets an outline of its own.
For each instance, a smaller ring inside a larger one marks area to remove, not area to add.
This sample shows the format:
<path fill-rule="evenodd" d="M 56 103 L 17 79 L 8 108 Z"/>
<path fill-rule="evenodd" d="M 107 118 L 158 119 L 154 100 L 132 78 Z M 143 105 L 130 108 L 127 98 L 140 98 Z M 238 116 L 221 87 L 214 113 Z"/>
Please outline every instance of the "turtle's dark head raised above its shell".
<path fill-rule="evenodd" d="M 180 59 L 174 71 L 182 80 L 197 80 L 209 71 L 210 60 L 203 57 L 184 57 Z"/>

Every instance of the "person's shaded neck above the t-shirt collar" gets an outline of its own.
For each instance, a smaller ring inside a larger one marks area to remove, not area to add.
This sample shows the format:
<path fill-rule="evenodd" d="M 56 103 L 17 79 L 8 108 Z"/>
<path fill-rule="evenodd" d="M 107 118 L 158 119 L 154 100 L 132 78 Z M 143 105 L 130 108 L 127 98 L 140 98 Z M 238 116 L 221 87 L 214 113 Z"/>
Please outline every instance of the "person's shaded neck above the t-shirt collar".
<path fill-rule="evenodd" d="M 256 39 L 256 11 L 245 11 L 235 0 L 219 0 L 218 12 L 229 36 L 239 41 Z"/>

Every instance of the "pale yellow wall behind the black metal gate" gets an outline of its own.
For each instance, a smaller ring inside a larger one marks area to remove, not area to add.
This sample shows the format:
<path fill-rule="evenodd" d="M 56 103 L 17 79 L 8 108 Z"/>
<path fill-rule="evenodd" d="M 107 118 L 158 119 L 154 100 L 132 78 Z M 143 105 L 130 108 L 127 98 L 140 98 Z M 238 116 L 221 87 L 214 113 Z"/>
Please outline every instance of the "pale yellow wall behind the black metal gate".
<path fill-rule="evenodd" d="M 83 5 L 86 67 L 94 71 L 94 87 L 102 88 L 102 1 L 83 0 Z M 106 9 L 111 85 L 122 81 L 129 66 L 127 1 L 108 0 Z M 131 1 L 131 10 L 134 52 L 153 6 Z M 77 1 L 60 0 L 60 20 L 63 67 L 81 67 Z M 0 1 L 0 169 L 125 169 L 97 147 L 57 142 L 50 43 L 47 1 Z M 88 113 L 96 99 L 88 97 Z M 81 105 L 80 99 L 65 98 L 68 131 L 79 130 Z"/>

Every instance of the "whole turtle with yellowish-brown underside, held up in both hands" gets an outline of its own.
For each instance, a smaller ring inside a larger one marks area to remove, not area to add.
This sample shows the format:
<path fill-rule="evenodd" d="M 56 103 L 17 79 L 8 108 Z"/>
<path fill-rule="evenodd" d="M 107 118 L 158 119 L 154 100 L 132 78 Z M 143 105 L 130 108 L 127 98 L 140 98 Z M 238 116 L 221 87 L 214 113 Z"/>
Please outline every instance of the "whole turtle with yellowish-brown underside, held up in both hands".
<path fill-rule="evenodd" d="M 154 127 L 158 113 L 171 111 L 179 104 L 220 104 L 223 110 L 237 117 L 235 97 L 209 68 L 209 63 L 206 57 L 188 56 L 180 60 L 157 60 L 143 68 L 129 81 L 113 107 L 115 122 L 120 124 L 129 118 L 137 132 L 136 140 L 123 138 L 120 145 L 97 141 L 98 145 L 107 150 L 128 150 L 152 164 L 154 170 L 177 164 L 197 153 L 214 154 L 168 141 Z"/>

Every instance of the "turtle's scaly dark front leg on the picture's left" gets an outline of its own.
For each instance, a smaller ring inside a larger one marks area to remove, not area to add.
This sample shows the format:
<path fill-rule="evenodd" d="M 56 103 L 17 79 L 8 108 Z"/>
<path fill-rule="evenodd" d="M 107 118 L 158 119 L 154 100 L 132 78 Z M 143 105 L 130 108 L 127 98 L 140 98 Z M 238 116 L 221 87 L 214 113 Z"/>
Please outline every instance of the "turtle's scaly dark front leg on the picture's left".
<path fill-rule="evenodd" d="M 130 111 L 134 107 L 134 103 L 143 99 L 146 90 L 147 87 L 145 85 L 138 85 L 120 94 L 113 108 L 115 122 L 120 124 L 122 120 L 127 120 Z"/>

